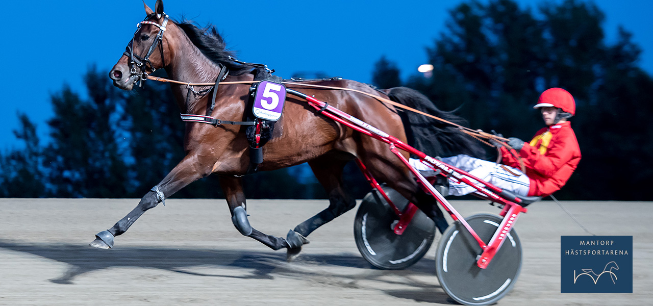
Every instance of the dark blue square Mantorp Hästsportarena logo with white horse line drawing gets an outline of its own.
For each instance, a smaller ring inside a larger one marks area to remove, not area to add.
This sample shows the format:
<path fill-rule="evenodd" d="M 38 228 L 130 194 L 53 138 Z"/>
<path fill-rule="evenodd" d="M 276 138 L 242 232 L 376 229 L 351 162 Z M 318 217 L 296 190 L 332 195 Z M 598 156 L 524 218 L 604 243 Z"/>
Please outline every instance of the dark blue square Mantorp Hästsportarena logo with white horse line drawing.
<path fill-rule="evenodd" d="M 560 293 L 633 293 L 633 236 L 560 236 Z"/>

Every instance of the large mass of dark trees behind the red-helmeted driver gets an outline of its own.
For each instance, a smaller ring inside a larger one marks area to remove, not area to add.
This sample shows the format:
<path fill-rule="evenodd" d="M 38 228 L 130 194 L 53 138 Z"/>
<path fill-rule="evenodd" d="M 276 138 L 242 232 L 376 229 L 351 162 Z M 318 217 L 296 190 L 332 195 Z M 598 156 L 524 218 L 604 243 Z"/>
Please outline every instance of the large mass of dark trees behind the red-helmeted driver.
<path fill-rule="evenodd" d="M 413 76 L 409 87 L 440 108 L 470 120 L 473 128 L 529 140 L 543 127 L 532 110 L 539 93 L 562 87 L 574 95 L 571 119 L 583 155 L 577 172 L 557 192 L 566 199 L 651 199 L 645 166 L 653 156 L 650 97 L 653 84 L 637 63 L 639 48 L 621 31 L 604 42 L 605 18 L 596 5 L 567 0 L 539 8 L 541 20 L 510 0 L 470 1 L 451 10 L 447 31 L 428 48 L 432 78 Z M 648 97 L 648 98 L 647 98 Z M 648 100 L 646 100 L 648 99 Z M 607 164 L 633 177 L 618 189 Z"/>

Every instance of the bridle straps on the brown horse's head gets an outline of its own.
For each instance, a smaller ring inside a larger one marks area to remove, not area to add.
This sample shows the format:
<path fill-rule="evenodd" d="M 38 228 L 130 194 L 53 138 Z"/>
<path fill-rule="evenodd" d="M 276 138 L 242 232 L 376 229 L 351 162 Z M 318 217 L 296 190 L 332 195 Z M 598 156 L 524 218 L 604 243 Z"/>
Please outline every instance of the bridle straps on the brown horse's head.
<path fill-rule="evenodd" d="M 166 25 L 168 25 L 168 15 L 163 13 L 163 23 L 159 25 L 159 23 L 156 22 L 150 22 L 148 19 L 150 16 L 147 16 L 142 22 L 139 22 L 136 24 L 136 32 L 134 33 L 134 37 L 131 38 L 131 42 L 127 45 L 127 51 L 125 51 L 123 54 L 129 57 L 129 74 L 130 76 L 136 75 L 139 76 L 138 80 L 134 81 L 134 84 L 136 82 L 140 81 L 140 84 L 142 84 L 142 81 L 147 80 L 148 78 L 148 73 L 147 69 L 150 69 L 151 72 L 156 71 L 152 66 L 152 63 L 150 62 L 150 55 L 154 52 L 154 49 L 156 46 L 159 46 L 159 52 L 161 52 L 161 63 L 165 63 L 165 60 L 163 58 L 163 33 L 166 30 Z M 136 33 L 138 33 L 138 30 L 140 30 L 140 27 L 144 24 L 151 24 L 154 25 L 155 27 L 159 28 L 159 33 L 157 33 L 157 36 L 154 37 L 154 40 L 152 41 L 152 44 L 150 46 L 150 49 L 148 50 L 148 53 L 144 57 L 140 57 L 136 54 L 134 54 L 134 40 L 136 39 Z M 149 65 L 149 67 L 148 67 Z M 139 71 L 140 70 L 140 71 Z M 140 73 L 138 73 L 140 72 Z M 139 85 L 140 85 L 139 84 Z"/>

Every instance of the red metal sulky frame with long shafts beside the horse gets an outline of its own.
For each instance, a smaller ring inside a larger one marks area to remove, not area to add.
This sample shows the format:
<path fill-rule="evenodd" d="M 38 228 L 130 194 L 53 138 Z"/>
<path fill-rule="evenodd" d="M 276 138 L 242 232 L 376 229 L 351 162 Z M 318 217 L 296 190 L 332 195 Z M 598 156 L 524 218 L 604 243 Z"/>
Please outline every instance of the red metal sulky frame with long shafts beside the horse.
<path fill-rule="evenodd" d="M 490 264 L 496 252 L 503 245 L 503 241 L 505 241 L 505 237 L 515 224 L 515 221 L 517 221 L 518 215 L 528 211 L 528 209 L 520 205 L 522 202 L 520 198 L 502 197 L 499 195 L 502 194 L 502 189 L 499 187 L 487 183 L 449 164 L 438 161 L 437 159 L 434 159 L 433 157 L 418 151 L 414 147 L 404 144 L 404 142 L 398 140 L 396 137 L 390 134 L 387 134 L 386 132 L 383 132 L 383 130 L 379 130 L 372 125 L 369 125 L 368 123 L 365 123 L 360 119 L 343 112 L 342 110 L 338 110 L 338 108 L 334 108 L 333 106 L 328 105 L 326 102 L 317 100 L 314 97 L 310 97 L 308 95 L 304 95 L 303 93 L 293 89 L 287 89 L 287 93 L 291 93 L 292 95 L 306 99 L 308 104 L 313 106 L 313 108 L 321 112 L 323 115 L 329 117 L 330 119 L 338 121 L 339 123 L 342 123 L 351 129 L 357 130 L 358 132 L 389 144 L 390 151 L 392 151 L 392 153 L 394 153 L 402 162 L 404 162 L 404 164 L 406 164 L 406 166 L 408 166 L 411 172 L 413 172 L 413 175 L 417 177 L 417 181 L 421 184 L 422 188 L 425 191 L 428 191 L 434 198 L 436 198 L 436 200 L 438 200 L 438 203 L 445 208 L 447 213 L 451 215 L 454 221 L 460 221 L 460 223 L 470 232 L 471 236 L 476 239 L 477 243 L 479 243 L 479 246 L 481 249 L 483 249 L 483 253 L 479 256 L 476 264 L 481 269 L 485 269 L 488 264 Z M 419 157 L 422 162 L 426 162 L 427 166 L 430 166 L 430 168 L 433 170 L 441 170 L 441 175 L 449 176 L 456 181 L 470 185 L 477 190 L 475 193 L 477 196 L 481 196 L 481 198 L 486 198 L 503 206 L 502 212 L 500 213 L 500 215 L 503 217 L 503 220 L 494 233 L 494 236 L 492 236 L 492 239 L 490 239 L 487 244 L 481 240 L 476 232 L 474 232 L 473 228 L 471 228 L 470 224 L 468 224 L 468 222 L 465 221 L 460 213 L 458 213 L 458 211 L 456 211 L 456 209 L 451 206 L 451 204 L 444 198 L 444 196 L 436 191 L 436 189 L 428 182 L 428 180 L 426 180 L 426 178 L 422 176 L 418 170 L 409 164 L 406 157 L 404 157 L 404 155 L 402 155 L 402 153 L 399 151 L 400 149 L 407 151 L 413 155 L 417 155 L 417 157 Z M 394 213 L 396 213 L 396 215 L 399 217 L 399 222 L 394 227 L 395 234 L 403 234 L 411 219 L 413 219 L 413 215 L 415 215 L 417 212 L 417 206 L 409 203 L 404 211 L 400 211 L 396 206 L 394 206 L 387 194 L 383 192 L 383 189 L 379 187 L 379 183 L 377 183 L 377 181 L 374 179 L 370 171 L 364 166 L 364 164 L 362 164 L 362 162 L 360 162 L 358 159 L 356 162 L 370 185 L 372 185 L 372 188 L 381 193 L 381 196 L 385 198 L 390 207 L 392 207 Z"/>

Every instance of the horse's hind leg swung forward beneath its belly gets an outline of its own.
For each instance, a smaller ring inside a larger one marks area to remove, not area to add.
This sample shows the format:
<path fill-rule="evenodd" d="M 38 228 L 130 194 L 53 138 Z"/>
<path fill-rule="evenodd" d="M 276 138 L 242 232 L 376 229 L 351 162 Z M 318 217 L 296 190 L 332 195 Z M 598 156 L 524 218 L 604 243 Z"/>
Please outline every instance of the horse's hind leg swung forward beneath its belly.
<path fill-rule="evenodd" d="M 329 206 L 288 232 L 286 240 L 291 245 L 288 249 L 289 260 L 299 255 L 302 245 L 308 243 L 306 237 L 311 232 L 356 206 L 353 196 L 343 189 L 342 171 L 348 161 L 349 159 L 327 156 L 308 162 L 315 177 L 327 191 Z"/>

